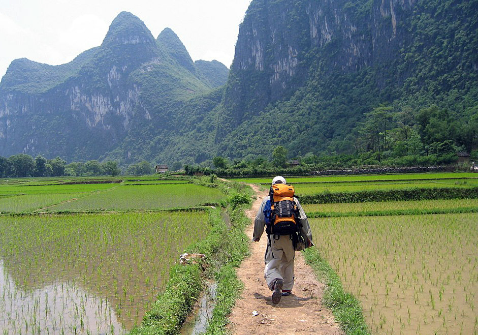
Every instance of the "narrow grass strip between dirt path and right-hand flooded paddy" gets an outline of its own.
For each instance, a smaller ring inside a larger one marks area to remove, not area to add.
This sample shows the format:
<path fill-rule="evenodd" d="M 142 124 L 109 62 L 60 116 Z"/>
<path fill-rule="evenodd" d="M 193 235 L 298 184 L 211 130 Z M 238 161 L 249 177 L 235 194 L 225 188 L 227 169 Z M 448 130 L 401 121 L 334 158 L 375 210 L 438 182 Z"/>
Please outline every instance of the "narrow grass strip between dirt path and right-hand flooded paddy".
<path fill-rule="evenodd" d="M 307 264 L 315 272 L 318 280 L 325 283 L 323 303 L 330 308 L 336 321 L 346 334 L 368 334 L 368 329 L 362 313 L 360 301 L 352 294 L 343 290 L 340 278 L 332 267 L 324 260 L 317 249 L 308 248 L 304 251 Z"/>

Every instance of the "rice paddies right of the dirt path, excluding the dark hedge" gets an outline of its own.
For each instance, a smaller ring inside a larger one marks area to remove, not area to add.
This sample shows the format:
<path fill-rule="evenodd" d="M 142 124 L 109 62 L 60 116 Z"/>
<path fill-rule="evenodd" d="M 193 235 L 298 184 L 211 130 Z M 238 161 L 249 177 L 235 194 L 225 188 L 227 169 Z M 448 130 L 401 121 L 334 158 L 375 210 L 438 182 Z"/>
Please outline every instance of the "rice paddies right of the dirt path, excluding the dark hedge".
<path fill-rule="evenodd" d="M 247 181 L 268 187 L 271 179 Z M 478 175 L 466 172 L 286 179 L 299 200 L 321 193 L 478 186 Z M 371 333 L 478 333 L 478 199 L 363 200 L 301 204 L 316 248 L 361 301 Z"/>

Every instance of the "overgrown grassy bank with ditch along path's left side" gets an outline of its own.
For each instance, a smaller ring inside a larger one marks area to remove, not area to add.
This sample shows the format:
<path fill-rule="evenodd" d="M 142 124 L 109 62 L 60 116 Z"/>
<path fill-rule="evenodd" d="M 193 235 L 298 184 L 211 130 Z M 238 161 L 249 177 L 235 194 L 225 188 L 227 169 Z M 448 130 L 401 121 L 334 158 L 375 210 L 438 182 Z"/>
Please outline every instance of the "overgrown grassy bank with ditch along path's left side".
<path fill-rule="evenodd" d="M 222 184 L 222 183 L 220 183 Z M 219 185 L 219 188 L 231 187 L 231 193 L 237 192 L 235 183 L 231 186 Z M 241 187 L 240 191 L 244 191 Z M 249 199 L 247 191 L 243 193 Z M 250 202 L 250 201 L 249 201 Z M 152 308 L 146 313 L 140 327 L 131 334 L 177 334 L 193 310 L 205 279 L 215 277 L 217 281 L 217 299 L 213 315 L 208 325 L 208 333 L 220 333 L 227 324 L 227 315 L 240 294 L 242 283 L 236 278 L 235 269 L 248 255 L 248 239 L 244 234 L 247 218 L 244 208 L 248 204 L 239 204 L 228 208 L 231 218 L 229 227 L 221 218 L 220 208 L 210 208 L 209 221 L 211 233 L 202 241 L 186 248 L 186 252 L 205 255 L 203 264 L 175 265 L 165 290 L 158 295 Z M 234 207 L 234 208 L 233 208 Z M 179 256 L 179 255 L 178 255 Z"/>

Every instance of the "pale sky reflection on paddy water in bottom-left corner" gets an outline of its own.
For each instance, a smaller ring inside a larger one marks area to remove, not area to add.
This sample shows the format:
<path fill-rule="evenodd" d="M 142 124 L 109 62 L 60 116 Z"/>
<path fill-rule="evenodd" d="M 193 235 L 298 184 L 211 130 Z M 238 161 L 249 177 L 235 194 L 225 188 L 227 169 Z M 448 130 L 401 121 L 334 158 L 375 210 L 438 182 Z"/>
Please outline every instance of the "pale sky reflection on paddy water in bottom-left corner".
<path fill-rule="evenodd" d="M 4 333 L 124 333 L 111 304 L 72 283 L 23 290 L 0 261 L 0 329 Z"/>

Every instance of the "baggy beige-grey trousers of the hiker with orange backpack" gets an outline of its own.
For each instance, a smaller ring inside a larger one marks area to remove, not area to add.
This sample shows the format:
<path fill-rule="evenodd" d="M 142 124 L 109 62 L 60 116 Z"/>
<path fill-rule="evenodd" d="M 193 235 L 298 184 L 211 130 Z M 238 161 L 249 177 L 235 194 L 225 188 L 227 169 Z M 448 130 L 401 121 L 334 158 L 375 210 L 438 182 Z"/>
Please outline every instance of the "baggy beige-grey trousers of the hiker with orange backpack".
<path fill-rule="evenodd" d="M 294 286 L 294 252 L 289 235 L 279 236 L 277 240 L 273 235 L 268 236 L 264 257 L 266 263 L 264 277 L 271 291 L 274 290 L 275 281 L 278 279 L 284 281 L 282 290 L 292 290 Z"/>

